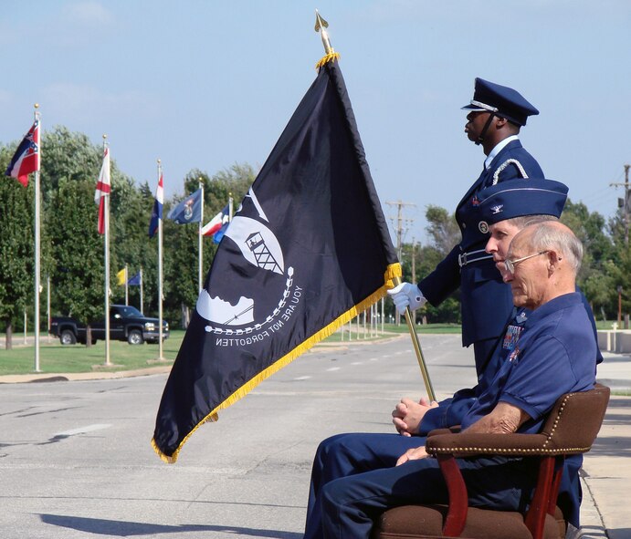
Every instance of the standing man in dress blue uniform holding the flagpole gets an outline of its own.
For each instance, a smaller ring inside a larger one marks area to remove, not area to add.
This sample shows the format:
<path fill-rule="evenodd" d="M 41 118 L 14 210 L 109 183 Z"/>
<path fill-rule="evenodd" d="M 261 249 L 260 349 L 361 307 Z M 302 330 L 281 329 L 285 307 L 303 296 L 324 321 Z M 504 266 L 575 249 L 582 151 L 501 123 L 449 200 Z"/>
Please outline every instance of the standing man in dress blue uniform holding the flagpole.
<path fill-rule="evenodd" d="M 543 178 L 539 163 L 521 146 L 518 134 L 529 116 L 539 114 L 512 88 L 476 78 L 465 132 L 487 155 L 484 170 L 458 202 L 456 220 L 462 240 L 418 285 L 403 283 L 389 291 L 402 312 L 425 301 L 437 306 L 460 288 L 462 345 L 473 344 L 478 373 L 484 369 L 510 316 L 510 286 L 502 283 L 485 253 L 488 231 L 479 228 L 478 193 L 491 185 L 521 178 Z"/>

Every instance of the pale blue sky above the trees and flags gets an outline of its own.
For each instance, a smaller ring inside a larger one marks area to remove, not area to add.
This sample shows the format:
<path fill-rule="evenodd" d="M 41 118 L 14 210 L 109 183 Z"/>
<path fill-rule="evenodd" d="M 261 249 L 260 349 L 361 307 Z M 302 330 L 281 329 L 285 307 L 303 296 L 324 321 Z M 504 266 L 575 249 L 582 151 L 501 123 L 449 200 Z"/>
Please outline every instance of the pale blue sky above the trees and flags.
<path fill-rule="evenodd" d="M 405 240 L 425 240 L 427 204 L 453 211 L 482 166 L 464 135 L 475 77 L 517 88 L 541 115 L 521 132 L 574 202 L 611 215 L 631 161 L 628 0 L 34 0 L 0 19 L 0 141 L 40 103 L 44 129 L 100 143 L 167 196 L 186 172 L 258 168 L 315 77 L 315 8 L 352 100 L 386 217 L 415 204 Z M 98 171 L 95 171 L 95 178 Z M 413 220 L 413 222 L 412 222 Z"/>

